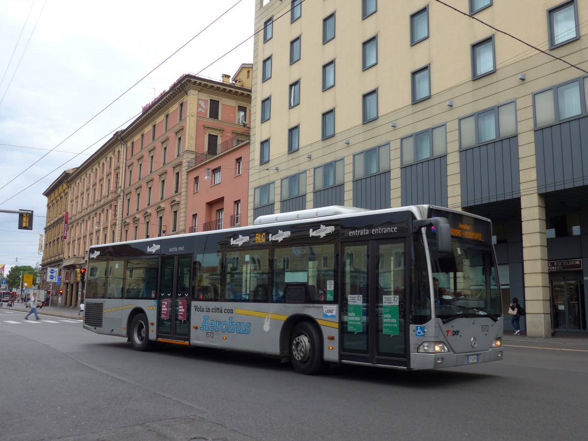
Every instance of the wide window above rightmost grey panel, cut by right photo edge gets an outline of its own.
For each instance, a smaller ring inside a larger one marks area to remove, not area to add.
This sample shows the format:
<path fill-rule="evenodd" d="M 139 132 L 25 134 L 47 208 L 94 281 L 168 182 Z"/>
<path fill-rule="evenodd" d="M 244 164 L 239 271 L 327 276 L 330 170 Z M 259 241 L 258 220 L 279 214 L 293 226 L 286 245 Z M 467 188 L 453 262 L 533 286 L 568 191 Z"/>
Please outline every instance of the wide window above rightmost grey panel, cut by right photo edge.
<path fill-rule="evenodd" d="M 586 113 L 588 76 L 533 95 L 535 126 L 542 127 Z"/>

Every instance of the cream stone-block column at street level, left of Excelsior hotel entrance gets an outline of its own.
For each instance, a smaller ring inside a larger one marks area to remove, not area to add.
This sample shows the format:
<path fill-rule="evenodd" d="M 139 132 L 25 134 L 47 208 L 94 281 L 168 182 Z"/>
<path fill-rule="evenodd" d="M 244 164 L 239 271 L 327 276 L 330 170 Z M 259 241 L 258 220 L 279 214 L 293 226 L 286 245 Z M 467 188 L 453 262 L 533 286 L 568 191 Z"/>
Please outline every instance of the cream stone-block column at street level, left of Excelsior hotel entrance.
<path fill-rule="evenodd" d="M 523 269 L 527 336 L 551 337 L 545 198 L 537 193 L 520 199 L 523 229 Z M 513 294 L 516 297 L 516 293 Z M 519 303 L 522 299 L 519 296 Z M 507 315 L 510 319 L 510 315 Z"/>

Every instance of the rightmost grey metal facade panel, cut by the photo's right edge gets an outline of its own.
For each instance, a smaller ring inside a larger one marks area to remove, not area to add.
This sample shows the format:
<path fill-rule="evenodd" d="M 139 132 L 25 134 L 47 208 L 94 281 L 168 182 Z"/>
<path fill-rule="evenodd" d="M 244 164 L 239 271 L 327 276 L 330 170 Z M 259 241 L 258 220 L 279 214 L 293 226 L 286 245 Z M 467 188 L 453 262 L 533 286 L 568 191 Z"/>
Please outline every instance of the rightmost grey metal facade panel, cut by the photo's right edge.
<path fill-rule="evenodd" d="M 535 131 L 537 192 L 588 185 L 588 116 Z"/>

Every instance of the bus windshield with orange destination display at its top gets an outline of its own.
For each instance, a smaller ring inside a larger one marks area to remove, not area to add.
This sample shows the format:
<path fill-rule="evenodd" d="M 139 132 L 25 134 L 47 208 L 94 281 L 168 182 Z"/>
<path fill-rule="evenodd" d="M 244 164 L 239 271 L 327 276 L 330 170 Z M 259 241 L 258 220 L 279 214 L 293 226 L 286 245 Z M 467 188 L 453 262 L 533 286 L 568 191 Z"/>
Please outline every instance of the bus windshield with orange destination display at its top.
<path fill-rule="evenodd" d="M 444 213 L 436 213 L 443 216 Z M 502 315 L 500 288 L 489 223 L 451 213 L 452 252 L 439 253 L 435 232 L 427 233 L 435 316 L 444 323 L 459 318 Z"/>

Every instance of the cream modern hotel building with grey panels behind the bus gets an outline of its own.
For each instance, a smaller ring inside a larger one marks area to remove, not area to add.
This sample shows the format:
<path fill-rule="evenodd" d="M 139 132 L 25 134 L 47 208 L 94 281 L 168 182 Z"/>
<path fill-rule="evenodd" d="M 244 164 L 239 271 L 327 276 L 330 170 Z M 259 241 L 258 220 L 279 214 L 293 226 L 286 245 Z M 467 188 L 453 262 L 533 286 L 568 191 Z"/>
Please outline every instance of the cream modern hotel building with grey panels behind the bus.
<path fill-rule="evenodd" d="M 579 0 L 256 0 L 249 223 L 484 215 L 505 312 L 517 296 L 529 336 L 586 332 L 586 21 Z"/>

